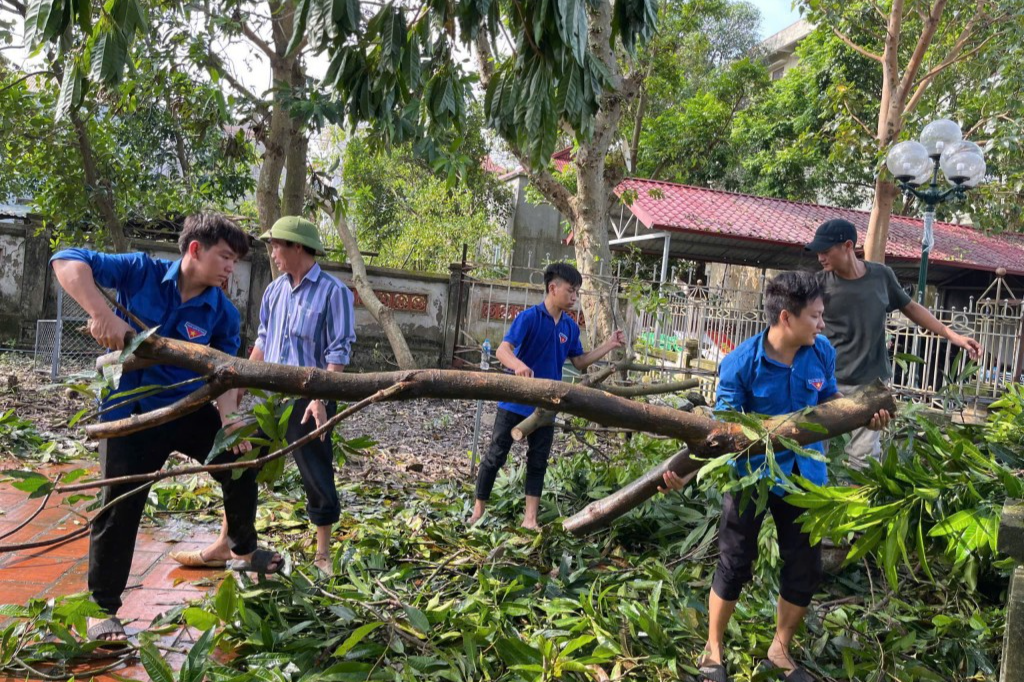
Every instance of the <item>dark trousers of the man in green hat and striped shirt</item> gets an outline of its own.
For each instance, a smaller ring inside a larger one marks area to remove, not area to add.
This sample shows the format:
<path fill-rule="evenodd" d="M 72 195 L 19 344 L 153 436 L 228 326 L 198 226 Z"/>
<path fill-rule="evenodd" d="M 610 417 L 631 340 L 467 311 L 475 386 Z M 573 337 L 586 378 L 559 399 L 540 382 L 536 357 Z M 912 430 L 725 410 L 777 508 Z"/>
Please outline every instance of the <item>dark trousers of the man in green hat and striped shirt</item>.
<path fill-rule="evenodd" d="M 288 421 L 288 442 L 295 442 L 316 428 L 316 423 L 310 417 L 301 424 L 302 415 L 309 404 L 308 398 L 299 398 L 292 409 Z M 327 417 L 331 419 L 337 412 L 334 401 L 326 402 Z M 341 518 L 341 503 L 338 502 L 338 487 L 334 482 L 334 446 L 331 443 L 331 432 L 325 438 L 314 438 L 295 451 L 295 463 L 302 475 L 302 487 L 306 492 L 306 513 L 313 525 L 333 525 Z"/>

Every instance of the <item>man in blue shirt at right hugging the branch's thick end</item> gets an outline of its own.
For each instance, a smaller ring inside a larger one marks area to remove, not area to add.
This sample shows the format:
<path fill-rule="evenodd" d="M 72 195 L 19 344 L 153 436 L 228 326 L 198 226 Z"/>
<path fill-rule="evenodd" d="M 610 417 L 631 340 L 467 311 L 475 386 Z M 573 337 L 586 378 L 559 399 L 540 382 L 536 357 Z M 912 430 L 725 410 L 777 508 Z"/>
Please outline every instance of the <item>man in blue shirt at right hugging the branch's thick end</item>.
<path fill-rule="evenodd" d="M 765 287 L 764 307 L 770 327 L 743 341 L 722 360 L 717 409 L 775 416 L 838 397 L 836 350 L 820 335 L 824 330 L 824 298 L 817 279 L 809 272 L 779 274 Z M 879 412 L 869 428 L 882 429 L 888 422 L 889 414 Z M 823 452 L 820 442 L 808 447 Z M 776 453 L 775 461 L 786 475 L 799 474 L 817 485 L 828 480 L 824 462 L 792 451 Z M 760 469 L 762 476 L 771 475 L 764 464 L 764 455 L 736 462 L 743 474 Z M 665 483 L 667 488 L 679 489 L 683 479 L 670 471 L 665 474 Z M 794 662 L 790 644 L 821 582 L 821 547 L 812 546 L 809 536 L 800 529 L 797 517 L 804 510 L 788 504 L 781 493 L 776 487 L 768 500 L 783 562 L 775 638 L 768 660 L 785 679 L 807 682 L 813 678 Z M 708 604 L 708 643 L 697 663 L 700 682 L 729 679 L 723 666 L 722 641 L 739 592 L 753 578 L 764 517 L 765 512 L 758 514 L 753 502 L 740 509 L 738 496 L 731 493 L 722 502 L 719 561 Z"/>

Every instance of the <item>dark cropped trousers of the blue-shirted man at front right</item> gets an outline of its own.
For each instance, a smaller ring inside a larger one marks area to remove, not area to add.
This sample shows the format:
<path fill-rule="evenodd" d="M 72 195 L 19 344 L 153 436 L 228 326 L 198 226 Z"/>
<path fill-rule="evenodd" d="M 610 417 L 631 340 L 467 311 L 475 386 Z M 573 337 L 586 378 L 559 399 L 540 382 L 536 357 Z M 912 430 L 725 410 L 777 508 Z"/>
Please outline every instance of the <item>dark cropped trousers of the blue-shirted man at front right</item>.
<path fill-rule="evenodd" d="M 810 537 L 801 532 L 797 517 L 803 509 L 777 495 L 768 496 L 768 510 L 778 531 L 778 554 L 782 558 L 779 594 L 797 606 L 808 606 L 821 584 L 821 545 L 811 546 Z M 757 514 L 757 505 L 749 501 L 739 511 L 739 499 L 727 494 L 722 502 L 722 522 L 718 527 L 718 568 L 712 589 L 726 601 L 735 601 L 743 586 L 754 577 L 758 558 L 758 532 L 765 513 Z"/>

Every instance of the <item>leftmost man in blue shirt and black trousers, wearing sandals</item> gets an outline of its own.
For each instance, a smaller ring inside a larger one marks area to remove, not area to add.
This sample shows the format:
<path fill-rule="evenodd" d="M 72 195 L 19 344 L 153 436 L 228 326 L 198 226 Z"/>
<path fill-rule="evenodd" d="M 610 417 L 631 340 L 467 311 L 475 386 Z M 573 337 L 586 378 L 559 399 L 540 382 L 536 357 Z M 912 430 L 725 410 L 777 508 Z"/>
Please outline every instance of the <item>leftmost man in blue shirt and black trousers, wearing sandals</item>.
<path fill-rule="evenodd" d="M 65 291 L 89 314 L 89 331 L 106 348 L 123 349 L 133 330 L 120 312 L 108 307 L 98 287 L 117 290 L 118 302 L 146 327 L 171 339 L 209 345 L 234 355 L 242 344 L 241 317 L 221 290 L 234 264 L 249 251 L 249 237 L 233 222 L 219 215 L 195 215 L 185 220 L 178 240 L 181 259 L 152 258 L 143 253 L 103 254 L 86 249 L 66 249 L 50 259 Z M 118 386 L 125 393 L 142 386 L 171 386 L 198 375 L 181 368 L 158 365 L 126 372 Z M 147 395 L 130 401 L 126 396 L 108 399 L 104 420 L 166 407 L 187 395 L 193 385 Z M 172 452 L 205 462 L 221 427 L 237 428 L 233 413 L 236 392 L 217 398 L 217 407 L 206 404 L 168 424 L 127 436 L 110 438 L 100 457 L 103 478 L 153 473 L 161 469 Z M 221 454 L 215 462 L 233 461 L 249 443 Z M 256 471 L 241 476 L 214 474 L 224 494 L 231 556 L 261 572 L 275 572 L 284 565 L 280 554 L 256 546 Z M 110 502 L 136 488 L 135 483 L 103 489 Z M 89 591 L 106 613 L 91 619 L 89 637 L 124 641 L 124 626 L 117 617 L 121 595 L 128 584 L 135 539 L 145 507 L 148 486 L 117 503 L 97 516 L 89 538 Z"/>

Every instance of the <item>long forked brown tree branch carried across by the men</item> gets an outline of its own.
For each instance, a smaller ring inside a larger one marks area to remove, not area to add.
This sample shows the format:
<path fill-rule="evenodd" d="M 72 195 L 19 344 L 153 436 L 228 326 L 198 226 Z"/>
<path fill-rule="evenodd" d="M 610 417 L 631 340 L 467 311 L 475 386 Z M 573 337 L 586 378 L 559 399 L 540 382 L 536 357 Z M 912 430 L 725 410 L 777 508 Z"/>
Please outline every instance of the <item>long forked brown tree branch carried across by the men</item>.
<path fill-rule="evenodd" d="M 605 391 L 573 386 L 561 381 L 527 379 L 505 374 L 461 372 L 458 370 L 412 370 L 348 374 L 272 363 L 256 363 L 233 357 L 209 346 L 165 339 L 145 339 L 124 365 L 134 368 L 135 358 L 172 365 L 208 378 L 209 383 L 177 402 L 141 415 L 93 424 L 86 433 L 93 438 L 110 438 L 166 424 L 194 412 L 234 388 L 258 388 L 288 395 L 351 401 L 366 398 L 396 384 L 402 390 L 388 399 L 420 397 L 459 400 L 512 400 L 536 408 L 556 409 L 598 424 L 648 431 L 684 441 L 698 458 L 728 453 L 757 454 L 763 443 L 752 440 L 739 424 L 719 422 L 672 408 L 635 402 Z M 764 420 L 766 433 L 799 443 L 817 442 L 865 426 L 880 410 L 896 411 L 896 403 L 882 382 L 861 388 L 848 396 L 829 400 L 810 411 L 799 411 Z M 818 428 L 823 427 L 823 428 Z"/>

